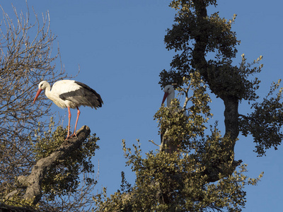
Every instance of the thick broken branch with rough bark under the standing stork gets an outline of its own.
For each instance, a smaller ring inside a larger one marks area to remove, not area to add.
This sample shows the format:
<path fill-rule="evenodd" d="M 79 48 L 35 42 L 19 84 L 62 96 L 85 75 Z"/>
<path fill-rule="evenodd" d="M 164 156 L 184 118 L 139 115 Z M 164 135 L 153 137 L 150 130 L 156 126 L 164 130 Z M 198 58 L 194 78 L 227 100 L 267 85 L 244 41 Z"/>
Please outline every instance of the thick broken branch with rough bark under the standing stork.
<path fill-rule="evenodd" d="M 33 170 L 28 177 L 18 177 L 18 182 L 28 187 L 25 192 L 24 199 L 33 199 L 33 204 L 37 204 L 42 196 L 42 179 L 44 179 L 48 170 L 54 168 L 57 160 L 64 160 L 70 153 L 81 146 L 84 140 L 91 133 L 88 126 L 82 126 L 81 129 L 76 131 L 77 137 L 73 137 L 64 141 L 54 153 L 49 155 L 47 158 L 42 158 L 37 161 Z"/>

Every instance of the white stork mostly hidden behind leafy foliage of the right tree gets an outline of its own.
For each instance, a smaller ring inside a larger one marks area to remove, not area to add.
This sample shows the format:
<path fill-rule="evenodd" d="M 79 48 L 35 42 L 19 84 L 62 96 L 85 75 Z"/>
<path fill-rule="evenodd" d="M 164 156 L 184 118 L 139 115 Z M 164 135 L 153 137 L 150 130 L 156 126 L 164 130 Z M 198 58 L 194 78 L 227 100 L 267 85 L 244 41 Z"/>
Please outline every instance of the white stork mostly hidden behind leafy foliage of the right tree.
<path fill-rule="evenodd" d="M 163 96 L 163 100 L 162 100 L 161 105 L 163 105 L 163 103 L 167 99 L 167 107 L 172 107 L 173 105 L 171 104 L 171 100 L 173 100 L 175 98 L 175 89 L 173 88 L 173 86 L 167 85 L 167 86 L 164 87 L 163 91 L 164 91 L 164 96 Z M 180 107 L 180 105 L 179 105 L 178 109 L 182 110 L 182 107 Z M 177 112 L 177 111 L 175 111 L 175 112 Z M 185 114 L 185 112 L 184 112 L 184 114 Z M 163 139 L 163 135 L 161 134 L 161 142 L 162 142 L 162 139 Z M 166 140 L 163 143 L 163 144 L 167 144 L 167 146 L 168 146 L 168 150 L 165 151 L 165 152 L 166 153 L 173 153 L 175 151 L 178 151 L 178 146 L 172 145 L 170 139 L 168 141 Z"/>

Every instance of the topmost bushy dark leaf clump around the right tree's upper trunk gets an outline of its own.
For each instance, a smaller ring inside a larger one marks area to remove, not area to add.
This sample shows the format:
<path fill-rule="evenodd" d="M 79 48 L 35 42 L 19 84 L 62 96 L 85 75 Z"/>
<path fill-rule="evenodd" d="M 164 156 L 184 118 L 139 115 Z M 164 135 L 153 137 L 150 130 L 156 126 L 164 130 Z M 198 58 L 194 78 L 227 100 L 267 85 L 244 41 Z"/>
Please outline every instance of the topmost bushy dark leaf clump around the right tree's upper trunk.
<path fill-rule="evenodd" d="M 164 41 L 167 49 L 177 51 L 192 52 L 192 45 L 195 40 L 204 40 L 206 52 L 218 52 L 223 57 L 236 57 L 235 46 L 239 43 L 236 39 L 236 33 L 231 31 L 232 20 L 220 18 L 218 13 L 207 16 L 202 20 L 198 20 L 195 10 L 183 8 L 175 16 L 175 24 L 172 29 L 167 30 Z M 201 23 L 200 23 L 201 21 Z M 191 47 L 190 47 L 191 45 Z M 179 55 L 175 59 L 185 57 Z"/>

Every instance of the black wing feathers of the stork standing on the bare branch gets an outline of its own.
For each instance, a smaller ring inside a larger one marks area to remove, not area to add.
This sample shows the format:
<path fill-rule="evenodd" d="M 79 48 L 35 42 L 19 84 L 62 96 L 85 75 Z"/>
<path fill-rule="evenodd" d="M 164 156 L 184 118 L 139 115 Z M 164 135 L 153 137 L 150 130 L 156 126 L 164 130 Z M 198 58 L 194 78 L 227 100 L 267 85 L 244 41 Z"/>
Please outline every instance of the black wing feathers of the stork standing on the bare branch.
<path fill-rule="evenodd" d="M 81 88 L 77 90 L 73 90 L 67 93 L 62 93 L 59 95 L 59 98 L 62 100 L 70 100 L 72 102 L 76 102 L 79 105 L 85 105 L 89 107 L 101 107 L 103 104 L 103 100 L 100 95 L 96 93 L 96 90 L 86 86 L 86 84 L 75 81 L 74 83 L 81 86 Z"/>

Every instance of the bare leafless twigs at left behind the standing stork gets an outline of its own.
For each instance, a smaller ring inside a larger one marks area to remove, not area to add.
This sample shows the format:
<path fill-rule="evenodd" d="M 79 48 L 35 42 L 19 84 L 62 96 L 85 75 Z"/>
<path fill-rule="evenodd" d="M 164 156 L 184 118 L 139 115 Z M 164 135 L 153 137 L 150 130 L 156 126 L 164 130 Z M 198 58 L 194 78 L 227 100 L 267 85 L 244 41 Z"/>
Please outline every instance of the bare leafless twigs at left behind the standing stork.
<path fill-rule="evenodd" d="M 50 33 L 47 13 L 42 22 L 26 13 L 7 14 L 0 6 L 0 194 L 13 189 L 15 176 L 27 175 L 34 165 L 30 142 L 35 129 L 45 131 L 52 116 L 52 102 L 40 99 L 32 105 L 37 84 L 67 77 L 64 69 L 55 70 L 59 52 L 52 52 L 56 36 Z M 12 21 L 13 20 L 13 21 Z"/>

